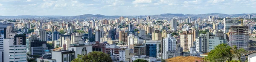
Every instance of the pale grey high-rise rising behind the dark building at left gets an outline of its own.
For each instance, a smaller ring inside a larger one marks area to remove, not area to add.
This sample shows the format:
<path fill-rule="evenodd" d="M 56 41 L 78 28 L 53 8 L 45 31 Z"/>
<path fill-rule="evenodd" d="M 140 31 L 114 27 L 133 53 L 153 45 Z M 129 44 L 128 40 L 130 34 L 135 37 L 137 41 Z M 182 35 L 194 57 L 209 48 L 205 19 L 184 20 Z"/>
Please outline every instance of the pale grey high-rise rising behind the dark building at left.
<path fill-rule="evenodd" d="M 41 41 L 47 41 L 46 30 L 37 29 L 37 30 L 35 30 L 35 33 L 39 36 L 39 40 L 41 40 Z"/>

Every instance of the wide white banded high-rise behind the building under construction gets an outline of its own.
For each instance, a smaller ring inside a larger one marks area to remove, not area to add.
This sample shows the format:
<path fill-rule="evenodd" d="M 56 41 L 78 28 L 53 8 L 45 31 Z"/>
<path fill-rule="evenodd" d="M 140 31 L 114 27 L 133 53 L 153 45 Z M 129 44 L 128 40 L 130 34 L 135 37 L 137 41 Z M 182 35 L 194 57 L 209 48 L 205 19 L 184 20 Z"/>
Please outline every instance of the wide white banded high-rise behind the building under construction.
<path fill-rule="evenodd" d="M 224 18 L 224 33 L 229 32 L 231 26 L 237 26 L 242 22 L 239 21 L 242 18 Z"/>

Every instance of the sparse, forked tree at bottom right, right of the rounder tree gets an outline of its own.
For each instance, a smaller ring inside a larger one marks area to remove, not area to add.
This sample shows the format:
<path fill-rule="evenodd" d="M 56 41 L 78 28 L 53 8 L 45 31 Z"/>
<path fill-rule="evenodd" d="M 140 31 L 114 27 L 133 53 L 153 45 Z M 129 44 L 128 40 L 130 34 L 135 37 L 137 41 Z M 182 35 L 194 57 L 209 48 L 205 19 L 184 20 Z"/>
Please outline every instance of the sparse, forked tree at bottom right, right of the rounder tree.
<path fill-rule="evenodd" d="M 247 51 L 245 51 L 244 49 L 237 49 L 236 45 L 233 46 L 231 52 L 232 52 L 232 54 L 234 55 L 235 58 L 239 59 L 240 62 L 241 62 L 242 54 L 247 53 Z"/>

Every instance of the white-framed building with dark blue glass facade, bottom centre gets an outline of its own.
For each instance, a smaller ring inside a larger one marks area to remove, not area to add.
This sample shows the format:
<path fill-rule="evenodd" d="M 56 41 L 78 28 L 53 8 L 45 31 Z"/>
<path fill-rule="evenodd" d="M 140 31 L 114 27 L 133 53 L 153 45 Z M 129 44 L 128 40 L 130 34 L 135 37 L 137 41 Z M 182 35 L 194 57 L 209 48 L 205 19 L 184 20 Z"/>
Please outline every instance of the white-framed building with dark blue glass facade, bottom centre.
<path fill-rule="evenodd" d="M 161 40 L 146 40 L 146 56 L 161 58 Z"/>

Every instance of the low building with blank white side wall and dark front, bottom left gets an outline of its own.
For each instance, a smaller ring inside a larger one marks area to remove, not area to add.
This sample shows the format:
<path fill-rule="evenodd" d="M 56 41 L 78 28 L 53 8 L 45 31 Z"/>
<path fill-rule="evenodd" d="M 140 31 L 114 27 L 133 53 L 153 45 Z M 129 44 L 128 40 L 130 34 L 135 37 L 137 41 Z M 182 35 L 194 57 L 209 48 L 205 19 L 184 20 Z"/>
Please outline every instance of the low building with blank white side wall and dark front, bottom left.
<path fill-rule="evenodd" d="M 71 62 L 76 58 L 76 51 L 52 51 L 52 59 L 56 62 Z"/>

